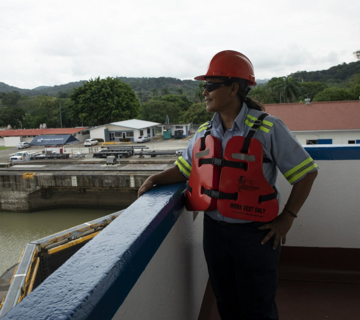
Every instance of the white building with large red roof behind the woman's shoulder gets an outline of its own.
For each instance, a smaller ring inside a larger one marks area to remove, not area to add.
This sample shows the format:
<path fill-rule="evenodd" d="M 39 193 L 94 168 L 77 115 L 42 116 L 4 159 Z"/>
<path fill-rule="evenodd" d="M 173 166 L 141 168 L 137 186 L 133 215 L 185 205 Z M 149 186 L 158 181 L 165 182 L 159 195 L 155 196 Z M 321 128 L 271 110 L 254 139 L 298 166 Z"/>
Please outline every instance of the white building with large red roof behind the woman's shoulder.
<path fill-rule="evenodd" d="M 265 104 L 302 144 L 360 143 L 360 102 L 325 101 Z"/>

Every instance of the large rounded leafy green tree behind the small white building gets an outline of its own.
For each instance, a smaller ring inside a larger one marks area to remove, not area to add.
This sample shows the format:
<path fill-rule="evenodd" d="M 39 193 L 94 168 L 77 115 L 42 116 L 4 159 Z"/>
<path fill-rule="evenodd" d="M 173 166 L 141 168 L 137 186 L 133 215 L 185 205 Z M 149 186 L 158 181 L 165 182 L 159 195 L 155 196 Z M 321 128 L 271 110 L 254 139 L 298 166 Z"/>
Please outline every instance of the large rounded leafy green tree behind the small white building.
<path fill-rule="evenodd" d="M 90 79 L 70 96 L 78 125 L 99 126 L 136 118 L 140 104 L 135 92 L 117 78 Z"/>

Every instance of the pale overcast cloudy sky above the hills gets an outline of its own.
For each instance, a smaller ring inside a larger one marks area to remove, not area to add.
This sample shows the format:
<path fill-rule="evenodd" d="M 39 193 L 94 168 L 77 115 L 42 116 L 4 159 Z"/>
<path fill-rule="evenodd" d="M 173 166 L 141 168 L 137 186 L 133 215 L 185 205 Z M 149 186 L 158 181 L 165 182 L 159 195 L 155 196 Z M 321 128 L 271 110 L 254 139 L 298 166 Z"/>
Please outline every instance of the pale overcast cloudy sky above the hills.
<path fill-rule="evenodd" d="M 203 74 L 221 50 L 257 79 L 356 61 L 360 1 L 0 1 L 0 82 L 33 89 L 97 76 Z"/>

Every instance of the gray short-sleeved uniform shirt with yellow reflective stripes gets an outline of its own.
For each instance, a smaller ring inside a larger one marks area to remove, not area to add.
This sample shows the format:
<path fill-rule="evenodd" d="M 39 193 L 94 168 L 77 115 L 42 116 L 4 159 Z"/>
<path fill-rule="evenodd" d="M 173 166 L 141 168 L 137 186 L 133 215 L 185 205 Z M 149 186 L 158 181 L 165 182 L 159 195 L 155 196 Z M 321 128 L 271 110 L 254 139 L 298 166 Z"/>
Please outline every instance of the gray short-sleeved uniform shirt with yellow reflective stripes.
<path fill-rule="evenodd" d="M 262 113 L 264 112 L 249 109 L 246 103 L 243 103 L 233 127 L 225 132 L 222 129 L 220 114 L 215 113 L 211 120 L 211 135 L 220 139 L 223 156 L 228 141 L 233 136 L 246 136 L 253 126 L 254 121 L 256 121 Z M 197 133 L 189 141 L 188 147 L 185 149 L 183 155 L 174 163 L 187 178 L 189 178 L 191 174 L 194 143 L 197 139 L 204 136 L 209 124 L 210 122 L 207 122 L 199 127 Z M 279 118 L 271 115 L 267 116 L 262 121 L 261 126 L 257 129 L 253 138 L 261 142 L 264 157 L 271 160 L 269 163 L 263 163 L 262 170 L 267 182 L 269 182 L 271 186 L 275 186 L 278 191 L 279 204 L 280 192 L 276 187 L 278 168 L 290 184 L 295 184 L 303 179 L 307 173 L 318 170 L 317 164 Z M 248 220 L 224 217 L 218 210 L 206 212 L 206 214 L 214 220 L 219 221 L 231 223 L 250 222 Z"/>

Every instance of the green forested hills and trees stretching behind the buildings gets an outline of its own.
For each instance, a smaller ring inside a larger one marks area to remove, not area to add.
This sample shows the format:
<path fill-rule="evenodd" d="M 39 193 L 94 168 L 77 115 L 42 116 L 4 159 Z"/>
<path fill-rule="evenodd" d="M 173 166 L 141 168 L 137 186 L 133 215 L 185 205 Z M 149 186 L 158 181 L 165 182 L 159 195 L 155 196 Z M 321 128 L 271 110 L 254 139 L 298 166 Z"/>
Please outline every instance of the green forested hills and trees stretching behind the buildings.
<path fill-rule="evenodd" d="M 360 60 L 258 82 L 249 96 L 262 104 L 355 100 L 360 95 Z M 167 115 L 171 123 L 201 124 L 212 117 L 202 84 L 169 77 L 97 77 L 30 90 L 0 82 L 0 127 L 98 126 L 130 118 L 164 123 Z"/>

